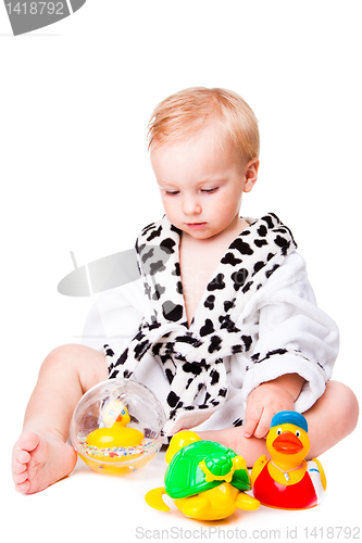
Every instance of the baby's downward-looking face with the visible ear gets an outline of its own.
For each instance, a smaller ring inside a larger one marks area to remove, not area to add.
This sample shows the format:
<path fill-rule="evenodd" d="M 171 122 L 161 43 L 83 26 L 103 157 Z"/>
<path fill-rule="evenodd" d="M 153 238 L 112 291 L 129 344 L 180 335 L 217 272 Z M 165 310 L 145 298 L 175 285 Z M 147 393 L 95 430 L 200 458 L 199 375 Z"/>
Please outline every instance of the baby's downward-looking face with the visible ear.
<path fill-rule="evenodd" d="M 167 218 L 197 239 L 233 228 L 239 220 L 242 192 L 257 180 L 259 162 L 251 162 L 242 163 L 232 143 L 217 144 L 208 127 L 151 150 Z"/>

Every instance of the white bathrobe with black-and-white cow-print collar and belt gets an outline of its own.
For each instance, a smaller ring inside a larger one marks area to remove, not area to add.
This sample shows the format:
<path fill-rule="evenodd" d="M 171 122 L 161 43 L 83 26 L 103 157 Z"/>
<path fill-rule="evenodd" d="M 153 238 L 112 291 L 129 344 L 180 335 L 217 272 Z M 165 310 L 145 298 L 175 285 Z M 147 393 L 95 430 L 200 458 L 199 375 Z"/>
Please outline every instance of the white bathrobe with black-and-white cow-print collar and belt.
<path fill-rule="evenodd" d="M 221 260 L 189 327 L 182 232 L 166 217 L 137 240 L 140 279 L 98 301 L 97 336 L 109 338 L 110 378 L 149 386 L 163 402 L 167 434 L 241 425 L 249 393 L 284 374 L 305 379 L 296 402 L 304 412 L 330 377 L 338 330 L 315 305 L 291 232 L 272 213 L 246 220 L 249 227 Z"/>

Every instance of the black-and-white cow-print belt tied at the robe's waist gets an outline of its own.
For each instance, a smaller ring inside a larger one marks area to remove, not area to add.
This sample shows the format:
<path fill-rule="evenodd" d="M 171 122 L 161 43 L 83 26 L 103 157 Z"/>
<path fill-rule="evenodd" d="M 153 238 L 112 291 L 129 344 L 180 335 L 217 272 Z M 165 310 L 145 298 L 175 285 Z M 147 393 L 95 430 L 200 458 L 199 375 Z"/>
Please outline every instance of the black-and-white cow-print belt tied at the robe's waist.
<path fill-rule="evenodd" d="M 167 417 L 175 420 L 177 415 L 190 409 L 195 416 L 194 409 L 200 409 L 202 405 L 203 414 L 199 412 L 198 416 L 200 421 L 205 420 L 226 401 L 227 376 L 223 358 L 248 350 L 249 345 L 242 340 L 245 336 L 240 330 L 230 332 L 220 328 L 200 338 L 174 323 L 153 330 L 147 330 L 147 327 L 146 324 L 141 329 L 140 341 L 137 337 L 134 339 L 137 349 L 142 345 L 135 357 L 140 361 L 151 352 L 159 359 L 172 387 L 167 396 Z M 212 386 L 215 386 L 216 396 L 209 392 Z"/>

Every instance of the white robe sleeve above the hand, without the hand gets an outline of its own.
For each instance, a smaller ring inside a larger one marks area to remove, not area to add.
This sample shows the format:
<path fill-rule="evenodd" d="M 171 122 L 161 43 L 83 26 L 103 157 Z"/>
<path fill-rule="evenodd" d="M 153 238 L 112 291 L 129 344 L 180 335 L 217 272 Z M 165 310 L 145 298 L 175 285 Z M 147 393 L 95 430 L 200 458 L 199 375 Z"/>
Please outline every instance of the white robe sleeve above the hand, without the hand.
<path fill-rule="evenodd" d="M 316 306 L 298 253 L 288 256 L 273 274 L 254 311 L 259 330 L 246 368 L 244 402 L 262 382 L 299 374 L 305 383 L 295 408 L 303 413 L 323 394 L 332 376 L 339 334 L 334 320 Z"/>

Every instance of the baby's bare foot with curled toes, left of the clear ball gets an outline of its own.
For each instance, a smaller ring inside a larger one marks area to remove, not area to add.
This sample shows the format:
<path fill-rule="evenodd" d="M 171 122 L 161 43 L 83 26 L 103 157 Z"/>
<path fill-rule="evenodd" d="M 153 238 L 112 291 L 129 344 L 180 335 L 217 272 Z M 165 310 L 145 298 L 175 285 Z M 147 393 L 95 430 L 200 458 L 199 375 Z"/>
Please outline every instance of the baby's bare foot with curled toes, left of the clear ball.
<path fill-rule="evenodd" d="M 15 489 L 34 494 L 70 475 L 77 460 L 71 445 L 57 435 L 23 432 L 13 450 Z"/>

